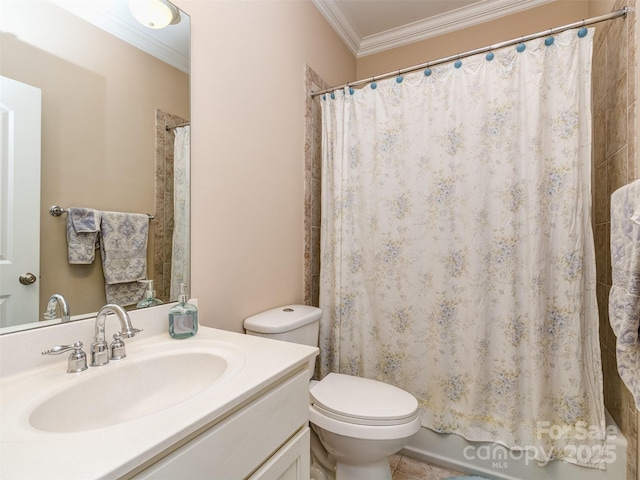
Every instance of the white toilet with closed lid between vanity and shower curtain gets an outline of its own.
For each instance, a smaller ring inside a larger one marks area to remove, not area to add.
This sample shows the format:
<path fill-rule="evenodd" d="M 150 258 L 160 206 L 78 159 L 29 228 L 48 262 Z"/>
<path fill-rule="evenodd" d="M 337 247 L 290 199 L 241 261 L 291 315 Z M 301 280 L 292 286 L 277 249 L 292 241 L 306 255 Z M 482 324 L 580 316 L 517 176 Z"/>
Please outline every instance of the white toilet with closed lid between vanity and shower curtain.
<path fill-rule="evenodd" d="M 247 318 L 244 328 L 248 335 L 318 346 L 321 316 L 317 307 L 287 305 Z M 420 429 L 418 401 L 393 385 L 352 375 L 314 381 L 315 359 L 310 367 L 312 478 L 391 480 L 389 455 Z"/>

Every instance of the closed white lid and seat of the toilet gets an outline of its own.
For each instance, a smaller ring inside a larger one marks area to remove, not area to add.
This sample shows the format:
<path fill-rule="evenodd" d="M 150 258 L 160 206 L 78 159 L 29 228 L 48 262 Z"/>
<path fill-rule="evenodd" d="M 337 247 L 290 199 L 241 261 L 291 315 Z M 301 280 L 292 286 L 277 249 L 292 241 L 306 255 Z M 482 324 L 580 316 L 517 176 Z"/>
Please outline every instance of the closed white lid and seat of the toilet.
<path fill-rule="evenodd" d="M 358 425 L 399 425 L 415 419 L 418 401 L 393 385 L 330 373 L 309 391 L 321 413 Z"/>

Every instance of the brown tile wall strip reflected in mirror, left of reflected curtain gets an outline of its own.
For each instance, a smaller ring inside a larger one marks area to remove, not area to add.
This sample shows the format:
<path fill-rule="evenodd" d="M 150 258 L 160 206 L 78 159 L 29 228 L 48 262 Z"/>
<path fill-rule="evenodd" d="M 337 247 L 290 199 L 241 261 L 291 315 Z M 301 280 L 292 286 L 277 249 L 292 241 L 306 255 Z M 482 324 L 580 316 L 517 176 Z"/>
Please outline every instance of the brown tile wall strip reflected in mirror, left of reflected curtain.
<path fill-rule="evenodd" d="M 184 118 L 156 110 L 156 218 L 154 220 L 153 282 L 156 297 L 169 301 L 171 245 L 173 242 L 173 131 L 166 127 L 185 123 Z"/>

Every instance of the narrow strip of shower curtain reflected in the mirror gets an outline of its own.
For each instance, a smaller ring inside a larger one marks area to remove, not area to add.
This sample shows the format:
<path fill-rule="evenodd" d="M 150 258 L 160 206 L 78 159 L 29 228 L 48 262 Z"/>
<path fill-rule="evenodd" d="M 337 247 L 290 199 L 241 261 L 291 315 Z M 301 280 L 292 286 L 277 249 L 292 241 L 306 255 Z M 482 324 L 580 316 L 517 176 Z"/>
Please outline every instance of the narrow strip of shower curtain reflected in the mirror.
<path fill-rule="evenodd" d="M 187 285 L 191 278 L 191 258 L 189 245 L 191 230 L 191 127 L 175 129 L 173 151 L 173 243 L 171 249 L 171 301 L 180 295 L 180 284 Z"/>

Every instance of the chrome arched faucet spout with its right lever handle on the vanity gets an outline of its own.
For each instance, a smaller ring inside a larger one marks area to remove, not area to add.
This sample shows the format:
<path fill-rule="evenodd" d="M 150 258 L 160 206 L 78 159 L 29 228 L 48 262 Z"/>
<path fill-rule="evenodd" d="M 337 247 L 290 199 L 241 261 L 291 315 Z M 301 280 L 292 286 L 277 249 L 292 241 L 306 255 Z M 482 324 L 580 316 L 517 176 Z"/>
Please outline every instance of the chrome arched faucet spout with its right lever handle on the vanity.
<path fill-rule="evenodd" d="M 116 333 L 113 338 L 114 341 L 111 344 L 111 359 L 119 360 L 126 357 L 124 351 L 124 342 L 122 337 L 131 338 L 140 332 L 137 328 L 133 328 L 131 325 L 131 319 L 129 314 L 120 305 L 113 303 L 107 304 L 98 311 L 96 316 L 96 336 L 91 344 L 91 366 L 99 367 L 109 363 L 109 346 L 105 340 L 105 323 L 107 316 L 113 313 L 120 320 L 121 331 Z"/>

